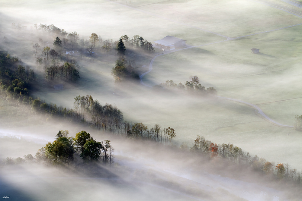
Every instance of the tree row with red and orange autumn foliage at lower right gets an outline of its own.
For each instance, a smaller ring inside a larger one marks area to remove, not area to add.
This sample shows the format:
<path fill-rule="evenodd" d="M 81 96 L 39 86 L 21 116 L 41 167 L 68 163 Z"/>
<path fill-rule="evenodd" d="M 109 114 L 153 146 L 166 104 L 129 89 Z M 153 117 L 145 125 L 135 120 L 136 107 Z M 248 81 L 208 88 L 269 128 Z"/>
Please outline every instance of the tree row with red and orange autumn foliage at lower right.
<path fill-rule="evenodd" d="M 186 146 L 183 144 L 182 147 Z M 275 178 L 284 178 L 302 184 L 302 172 L 297 171 L 296 168 L 291 169 L 288 163 L 275 164 L 275 162 L 269 162 L 264 158 L 259 158 L 257 155 L 251 157 L 249 152 L 243 152 L 241 148 L 231 143 L 217 145 L 206 140 L 203 136 L 197 136 L 193 147 L 191 147 L 191 151 L 209 158 L 228 159 L 230 162 L 251 166 L 263 174 L 273 175 Z"/>

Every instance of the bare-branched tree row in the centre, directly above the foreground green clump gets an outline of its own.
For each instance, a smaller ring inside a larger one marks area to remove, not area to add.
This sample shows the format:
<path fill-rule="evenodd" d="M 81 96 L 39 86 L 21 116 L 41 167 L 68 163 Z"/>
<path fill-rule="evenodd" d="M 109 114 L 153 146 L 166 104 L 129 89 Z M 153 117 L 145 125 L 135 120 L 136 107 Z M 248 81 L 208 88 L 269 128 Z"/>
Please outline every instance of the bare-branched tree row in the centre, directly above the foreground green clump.
<path fill-rule="evenodd" d="M 176 137 L 173 128 L 163 128 L 159 124 L 148 129 L 143 123 L 128 123 L 123 121 L 123 113 L 117 106 L 106 103 L 102 106 L 98 100 L 91 95 L 76 96 L 74 111 L 77 111 L 87 119 L 90 118 L 90 125 L 98 130 L 104 130 L 115 134 L 124 135 L 128 138 L 153 140 L 158 143 L 170 144 L 172 138 Z"/>

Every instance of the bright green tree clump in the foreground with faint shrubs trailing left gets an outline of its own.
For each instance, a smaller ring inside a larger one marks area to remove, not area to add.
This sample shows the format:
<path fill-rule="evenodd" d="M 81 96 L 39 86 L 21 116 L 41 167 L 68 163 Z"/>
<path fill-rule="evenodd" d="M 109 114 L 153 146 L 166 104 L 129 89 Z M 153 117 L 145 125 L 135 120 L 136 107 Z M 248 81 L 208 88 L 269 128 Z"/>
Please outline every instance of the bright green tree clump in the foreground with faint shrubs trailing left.
<path fill-rule="evenodd" d="M 68 130 L 60 130 L 53 142 L 38 149 L 35 157 L 31 154 L 12 159 L 7 157 L 7 165 L 20 164 L 25 162 L 36 162 L 45 165 L 70 165 L 74 163 L 75 155 L 79 155 L 83 162 L 102 162 L 104 165 L 114 163 L 114 148 L 109 139 L 97 141 L 85 130 L 76 133 L 75 137 L 69 137 Z"/>

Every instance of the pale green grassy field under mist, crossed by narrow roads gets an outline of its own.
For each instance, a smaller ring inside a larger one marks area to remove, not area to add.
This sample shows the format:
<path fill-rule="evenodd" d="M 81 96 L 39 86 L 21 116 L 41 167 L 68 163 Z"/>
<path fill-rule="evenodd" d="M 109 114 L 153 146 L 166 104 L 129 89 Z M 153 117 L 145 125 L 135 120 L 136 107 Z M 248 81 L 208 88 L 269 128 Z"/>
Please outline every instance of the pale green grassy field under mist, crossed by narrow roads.
<path fill-rule="evenodd" d="M 237 37 L 302 23 L 299 17 L 250 1 L 156 2 L 159 1 L 91 1 L 85 5 L 77 2 L 72 5 L 73 9 L 64 11 L 64 15 L 70 14 L 66 20 L 61 20 L 60 11 L 56 11 L 52 19 L 38 20 L 30 14 L 31 9 L 21 17 L 32 24 L 41 22 L 55 24 L 69 32 L 76 30 L 81 36 L 96 32 L 103 39 L 116 40 L 121 35 L 138 34 L 155 41 L 172 35 L 195 46 L 225 39 L 200 29 Z M 57 1 L 47 9 L 55 11 L 56 6 L 64 7 L 68 3 Z M 37 15 L 45 12 L 42 8 L 45 5 L 49 4 L 42 2 L 35 7 Z M 7 2 L 0 11 L 12 15 L 23 6 L 11 7 Z M 91 12 L 85 13 L 88 7 Z M 197 75 L 203 86 L 214 86 L 218 95 L 259 104 L 273 120 L 293 125 L 294 115 L 302 114 L 301 99 L 294 99 L 302 97 L 301 29 L 302 25 L 163 55 L 156 58 L 153 70 L 143 81 L 148 85 L 165 80 L 179 83 Z M 251 54 L 252 48 L 260 49 L 260 53 Z M 32 60 L 28 55 L 22 59 Z M 203 135 L 215 143 L 230 142 L 252 155 L 302 168 L 300 132 L 274 126 L 257 116 L 254 109 L 235 102 L 153 92 L 139 82 L 115 85 L 111 77 L 115 59 L 102 55 L 90 63 L 85 57 L 79 61 L 81 79 L 77 85 L 64 86 L 63 91 L 42 87 L 35 95 L 71 108 L 75 96 L 91 94 L 101 105 L 117 104 L 127 121 L 143 122 L 148 127 L 155 123 L 173 127 L 177 132 L 173 142 L 177 146 L 182 142 L 191 145 L 197 135 Z M 149 60 L 139 59 L 137 67 L 148 63 Z M 147 68 L 139 70 L 143 72 Z M 280 101 L 286 99 L 293 100 Z M 292 148 L 288 149 L 289 146 Z"/>

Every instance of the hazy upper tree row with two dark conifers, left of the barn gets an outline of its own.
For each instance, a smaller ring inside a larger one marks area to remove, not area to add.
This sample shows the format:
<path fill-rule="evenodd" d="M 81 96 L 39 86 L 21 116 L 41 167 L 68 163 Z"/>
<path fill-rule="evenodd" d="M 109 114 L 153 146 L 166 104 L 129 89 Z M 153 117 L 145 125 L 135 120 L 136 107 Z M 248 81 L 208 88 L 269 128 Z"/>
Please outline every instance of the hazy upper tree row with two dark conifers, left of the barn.
<path fill-rule="evenodd" d="M 84 39 L 84 37 L 80 38 L 79 34 L 76 31 L 67 33 L 64 29 L 61 30 L 53 24 L 34 24 L 34 28 L 37 30 L 37 33 L 43 35 L 48 34 L 51 37 L 56 37 L 53 43 L 54 49 L 56 49 L 60 57 L 63 58 L 66 58 L 69 55 L 74 55 L 75 50 L 79 52 L 81 58 L 83 53 L 90 56 L 90 60 L 97 49 L 105 52 L 107 56 L 108 53 L 111 52 L 111 50 L 116 50 L 118 54 L 120 54 L 120 52 L 123 52 L 122 54 L 124 55 L 126 48 L 141 49 L 147 53 L 154 52 L 152 42 L 149 42 L 143 39 L 142 36 L 138 35 L 133 36 L 132 39 L 130 39 L 127 35 L 124 35 L 121 36 L 119 40 L 114 41 L 112 39 L 103 40 L 100 35 L 92 33 L 89 36 L 89 39 Z M 39 41 L 40 44 L 43 43 L 43 39 L 40 38 Z M 121 42 L 123 43 L 123 46 L 120 46 Z M 61 47 L 61 49 L 58 50 L 58 47 Z M 36 55 L 36 47 L 33 46 L 33 49 L 34 54 Z M 68 50 L 71 50 L 71 52 L 69 52 Z M 43 58 L 36 57 L 37 64 L 41 63 L 41 59 L 43 61 Z"/>

